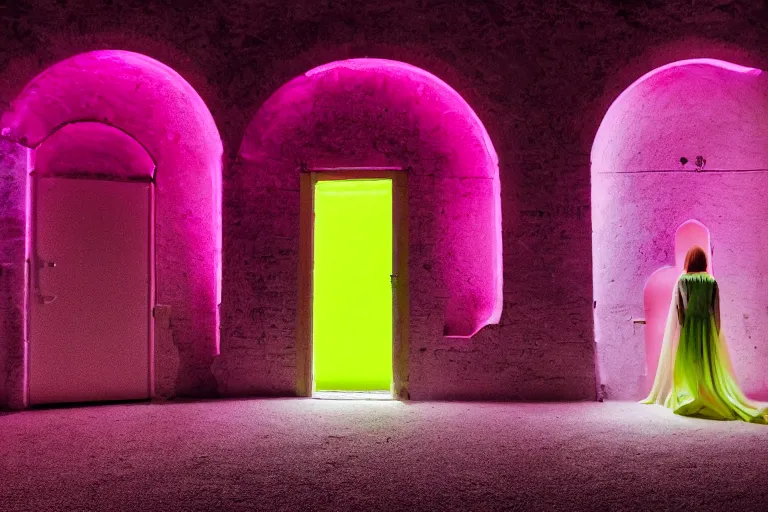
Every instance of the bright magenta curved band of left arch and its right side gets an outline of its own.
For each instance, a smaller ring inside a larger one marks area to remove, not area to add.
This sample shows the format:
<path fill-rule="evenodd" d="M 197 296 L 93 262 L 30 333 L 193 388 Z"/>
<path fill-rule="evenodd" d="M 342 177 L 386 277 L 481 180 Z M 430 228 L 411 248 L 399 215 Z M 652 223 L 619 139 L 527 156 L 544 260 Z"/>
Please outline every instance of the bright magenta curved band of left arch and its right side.
<path fill-rule="evenodd" d="M 171 326 L 183 366 L 177 391 L 213 394 L 222 151 L 214 121 L 195 91 L 156 61 L 134 53 L 92 52 L 35 77 L 11 101 L 2 126 L 9 138 L 35 147 L 66 123 L 83 120 L 123 130 L 157 162 L 156 295 L 173 307 Z M 87 131 L 72 129 L 81 136 Z"/>

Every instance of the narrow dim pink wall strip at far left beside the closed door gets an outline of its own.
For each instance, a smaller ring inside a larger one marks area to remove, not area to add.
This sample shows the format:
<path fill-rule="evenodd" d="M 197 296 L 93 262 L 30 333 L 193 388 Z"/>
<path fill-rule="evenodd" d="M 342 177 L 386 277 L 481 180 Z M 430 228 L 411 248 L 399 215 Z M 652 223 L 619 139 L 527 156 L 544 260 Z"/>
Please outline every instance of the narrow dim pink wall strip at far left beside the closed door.
<path fill-rule="evenodd" d="M 24 403 L 27 148 L 0 137 L 0 409 Z"/>

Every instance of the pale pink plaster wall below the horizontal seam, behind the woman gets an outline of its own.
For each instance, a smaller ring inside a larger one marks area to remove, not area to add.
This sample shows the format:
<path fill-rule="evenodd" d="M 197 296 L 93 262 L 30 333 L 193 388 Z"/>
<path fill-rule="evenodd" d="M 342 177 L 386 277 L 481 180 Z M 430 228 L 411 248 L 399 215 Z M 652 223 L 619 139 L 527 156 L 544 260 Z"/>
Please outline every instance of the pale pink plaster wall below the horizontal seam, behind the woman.
<path fill-rule="evenodd" d="M 723 326 L 739 382 L 745 391 L 766 390 L 768 258 L 763 228 L 768 206 L 762 197 L 765 174 L 687 174 L 643 177 L 614 175 L 617 208 L 604 225 L 600 244 L 612 244 L 599 271 L 606 288 L 597 298 L 598 354 L 610 396 L 638 398 L 645 374 L 643 287 L 658 268 L 673 263 L 675 230 L 695 218 L 711 231 L 714 270 L 721 287 Z M 659 195 L 658 190 L 669 191 Z M 638 194 L 643 195 L 638 195 Z M 682 199 L 682 200 L 681 200 Z M 622 265 L 634 261 L 632 265 Z M 651 369 L 655 371 L 655 369 Z"/>

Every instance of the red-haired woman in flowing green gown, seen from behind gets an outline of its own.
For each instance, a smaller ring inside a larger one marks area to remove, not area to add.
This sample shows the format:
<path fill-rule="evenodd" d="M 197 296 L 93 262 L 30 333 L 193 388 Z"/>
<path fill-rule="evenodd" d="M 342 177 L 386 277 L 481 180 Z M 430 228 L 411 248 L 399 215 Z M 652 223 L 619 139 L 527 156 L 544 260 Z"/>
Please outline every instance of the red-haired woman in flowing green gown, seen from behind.
<path fill-rule="evenodd" d="M 692 247 L 674 289 L 653 389 L 642 403 L 684 416 L 768 423 L 768 408 L 739 388 L 720 327 L 717 281 L 704 250 Z"/>

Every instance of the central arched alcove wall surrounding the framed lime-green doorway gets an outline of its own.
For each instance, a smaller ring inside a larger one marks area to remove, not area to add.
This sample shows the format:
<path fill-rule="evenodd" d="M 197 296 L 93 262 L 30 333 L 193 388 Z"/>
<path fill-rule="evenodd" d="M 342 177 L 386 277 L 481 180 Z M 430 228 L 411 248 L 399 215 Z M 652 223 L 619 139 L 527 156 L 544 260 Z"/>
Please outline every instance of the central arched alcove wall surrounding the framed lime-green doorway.
<path fill-rule="evenodd" d="M 222 355 L 240 377 L 228 372 L 227 393 L 295 391 L 302 171 L 406 172 L 411 346 L 450 344 L 443 338 L 499 321 L 496 152 L 470 106 L 434 75 L 382 59 L 312 69 L 261 106 L 238 165 L 227 193 L 237 207 L 226 226 Z"/>

